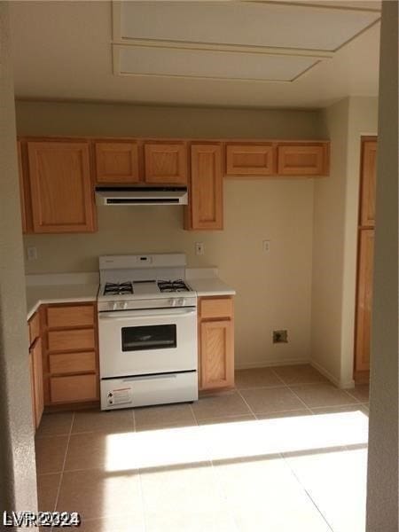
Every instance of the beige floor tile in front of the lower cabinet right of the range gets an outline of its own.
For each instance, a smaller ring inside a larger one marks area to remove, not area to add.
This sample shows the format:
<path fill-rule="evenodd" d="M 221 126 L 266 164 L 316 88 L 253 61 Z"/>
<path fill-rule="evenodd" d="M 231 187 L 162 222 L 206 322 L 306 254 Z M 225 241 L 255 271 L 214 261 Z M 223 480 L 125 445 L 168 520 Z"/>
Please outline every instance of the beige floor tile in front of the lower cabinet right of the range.
<path fill-rule="evenodd" d="M 250 411 L 237 392 L 200 397 L 192 404 L 196 419 L 222 418 L 223 416 L 240 416 Z"/>

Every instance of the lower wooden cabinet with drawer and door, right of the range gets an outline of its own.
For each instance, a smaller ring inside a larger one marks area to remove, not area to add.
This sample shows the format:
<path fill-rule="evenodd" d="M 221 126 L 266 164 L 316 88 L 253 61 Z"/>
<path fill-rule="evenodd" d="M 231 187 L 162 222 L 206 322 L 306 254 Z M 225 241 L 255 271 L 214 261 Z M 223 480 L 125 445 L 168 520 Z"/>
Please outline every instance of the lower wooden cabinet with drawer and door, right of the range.
<path fill-rule="evenodd" d="M 199 299 L 200 390 L 234 386 L 234 318 L 231 297 Z"/>

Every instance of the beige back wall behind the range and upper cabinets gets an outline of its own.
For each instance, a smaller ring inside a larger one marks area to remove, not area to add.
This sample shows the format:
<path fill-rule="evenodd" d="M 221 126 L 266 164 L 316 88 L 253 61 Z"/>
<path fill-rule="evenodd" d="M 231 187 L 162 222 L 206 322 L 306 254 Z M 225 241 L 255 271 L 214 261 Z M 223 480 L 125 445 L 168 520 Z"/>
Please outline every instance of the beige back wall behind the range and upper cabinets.
<path fill-rule="evenodd" d="M 19 102 L 20 135 L 323 138 L 321 113 Z M 98 233 L 27 236 L 30 273 L 98 269 L 99 254 L 180 251 L 237 290 L 236 364 L 309 360 L 313 180 L 224 182 L 224 231 L 184 231 L 182 207 L 98 207 Z M 262 254 L 262 240 L 271 240 Z M 205 254 L 194 254 L 195 242 Z M 255 311 L 254 311 L 255 309 Z M 289 343 L 273 345 L 273 329 Z"/>

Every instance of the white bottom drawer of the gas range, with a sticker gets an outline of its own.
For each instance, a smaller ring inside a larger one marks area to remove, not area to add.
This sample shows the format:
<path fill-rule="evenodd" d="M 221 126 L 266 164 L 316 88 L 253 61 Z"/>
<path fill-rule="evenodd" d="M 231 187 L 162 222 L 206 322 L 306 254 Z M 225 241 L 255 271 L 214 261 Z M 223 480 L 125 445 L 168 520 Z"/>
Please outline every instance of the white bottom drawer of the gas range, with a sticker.
<path fill-rule="evenodd" d="M 101 410 L 198 399 L 198 373 L 164 373 L 100 381 Z"/>

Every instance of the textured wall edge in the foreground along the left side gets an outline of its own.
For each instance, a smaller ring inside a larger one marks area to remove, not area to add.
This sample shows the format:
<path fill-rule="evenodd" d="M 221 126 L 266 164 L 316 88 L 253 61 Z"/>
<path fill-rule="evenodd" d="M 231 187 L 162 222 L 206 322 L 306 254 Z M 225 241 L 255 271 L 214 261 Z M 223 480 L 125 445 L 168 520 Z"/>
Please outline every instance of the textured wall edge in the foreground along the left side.
<path fill-rule="evenodd" d="M 0 3 L 0 510 L 36 508 L 8 3 Z"/>

